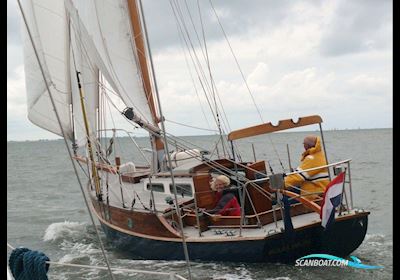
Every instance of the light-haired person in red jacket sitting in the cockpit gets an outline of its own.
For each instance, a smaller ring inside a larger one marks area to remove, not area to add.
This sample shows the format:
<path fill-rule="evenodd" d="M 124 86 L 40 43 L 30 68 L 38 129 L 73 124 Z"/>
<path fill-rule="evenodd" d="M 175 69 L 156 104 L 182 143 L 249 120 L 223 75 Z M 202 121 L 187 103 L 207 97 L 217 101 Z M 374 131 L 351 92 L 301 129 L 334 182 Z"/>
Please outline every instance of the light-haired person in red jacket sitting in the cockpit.
<path fill-rule="evenodd" d="M 222 216 L 240 216 L 240 204 L 232 192 L 225 190 L 231 181 L 225 175 L 219 175 L 210 182 L 210 187 L 215 191 L 215 203 L 212 210 L 207 212 Z"/>

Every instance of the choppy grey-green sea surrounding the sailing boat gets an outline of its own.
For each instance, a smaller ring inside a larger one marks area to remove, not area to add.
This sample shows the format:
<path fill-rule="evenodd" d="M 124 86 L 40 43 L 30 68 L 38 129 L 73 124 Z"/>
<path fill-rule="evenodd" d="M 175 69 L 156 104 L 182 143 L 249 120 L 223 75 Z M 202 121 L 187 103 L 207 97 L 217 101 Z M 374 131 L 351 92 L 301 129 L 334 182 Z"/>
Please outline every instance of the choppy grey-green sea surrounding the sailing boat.
<path fill-rule="evenodd" d="M 254 143 L 257 159 L 268 159 L 274 170 L 281 171 L 276 154 L 287 167 L 288 143 L 292 164 L 296 165 L 305 134 L 308 133 L 277 133 L 270 138 L 254 137 L 247 142 Z M 329 161 L 352 158 L 354 206 L 371 211 L 367 236 L 352 255 L 365 264 L 381 265 L 383 269 L 192 262 L 193 279 L 392 279 L 392 134 L 392 129 L 324 133 Z M 204 148 L 211 146 L 211 138 L 185 137 Z M 275 149 L 271 148 L 271 141 Z M 135 154 L 127 148 L 127 142 L 126 139 L 122 141 L 120 151 Z M 239 142 L 242 157 L 252 159 L 251 147 L 246 147 L 244 142 Z M 144 146 L 144 139 L 139 143 Z M 9 142 L 7 148 L 7 241 L 15 247 L 42 251 L 52 261 L 104 265 L 64 142 Z M 185 262 L 129 260 L 107 244 L 103 234 L 102 238 L 113 267 L 177 272 L 187 276 Z M 104 271 L 56 266 L 50 267 L 48 275 L 50 279 L 108 279 Z M 118 273 L 116 279 L 163 278 Z"/>

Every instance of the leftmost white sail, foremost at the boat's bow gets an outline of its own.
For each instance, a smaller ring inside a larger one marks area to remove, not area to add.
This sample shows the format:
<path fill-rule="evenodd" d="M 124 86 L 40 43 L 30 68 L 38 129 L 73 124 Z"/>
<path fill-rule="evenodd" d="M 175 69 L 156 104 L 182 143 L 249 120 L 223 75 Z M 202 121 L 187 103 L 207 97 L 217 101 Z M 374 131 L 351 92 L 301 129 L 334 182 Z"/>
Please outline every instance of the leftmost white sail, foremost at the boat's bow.
<path fill-rule="evenodd" d="M 23 10 L 61 119 L 62 128 L 67 138 L 72 139 L 70 83 L 66 68 L 68 53 L 65 51 L 68 46 L 68 37 L 64 3 L 52 0 L 28 0 L 23 3 Z M 62 136 L 25 25 L 22 27 L 22 33 L 28 118 L 39 127 Z"/>

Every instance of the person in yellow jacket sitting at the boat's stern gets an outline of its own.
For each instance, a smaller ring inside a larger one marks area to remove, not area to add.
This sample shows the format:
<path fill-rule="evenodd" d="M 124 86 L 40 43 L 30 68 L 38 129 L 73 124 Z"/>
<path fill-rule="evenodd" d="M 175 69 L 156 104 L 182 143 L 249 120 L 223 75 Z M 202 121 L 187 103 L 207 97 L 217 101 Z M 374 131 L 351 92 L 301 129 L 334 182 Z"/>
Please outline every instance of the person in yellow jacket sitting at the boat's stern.
<path fill-rule="evenodd" d="M 309 135 L 304 138 L 305 151 L 301 157 L 301 163 L 296 171 L 302 171 L 322 165 L 326 165 L 325 154 L 321 147 L 321 141 L 318 136 Z M 301 195 L 308 193 L 324 192 L 326 186 L 329 184 L 328 168 L 320 168 L 311 171 L 304 171 L 301 173 L 291 174 L 285 177 L 285 188 L 300 187 Z M 306 195 L 305 198 L 314 200 L 319 196 Z"/>

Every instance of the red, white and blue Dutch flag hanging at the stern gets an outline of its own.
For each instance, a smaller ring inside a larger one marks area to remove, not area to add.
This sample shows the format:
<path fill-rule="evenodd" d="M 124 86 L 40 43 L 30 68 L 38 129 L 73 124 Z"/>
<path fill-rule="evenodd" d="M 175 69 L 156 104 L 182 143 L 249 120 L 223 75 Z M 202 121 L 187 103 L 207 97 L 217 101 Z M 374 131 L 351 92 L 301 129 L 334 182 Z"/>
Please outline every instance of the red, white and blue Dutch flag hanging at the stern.
<path fill-rule="evenodd" d="M 335 221 L 335 208 L 339 206 L 344 184 L 345 172 L 334 178 L 325 189 L 321 205 L 321 226 L 327 228 Z"/>

